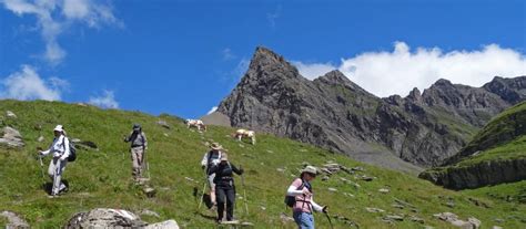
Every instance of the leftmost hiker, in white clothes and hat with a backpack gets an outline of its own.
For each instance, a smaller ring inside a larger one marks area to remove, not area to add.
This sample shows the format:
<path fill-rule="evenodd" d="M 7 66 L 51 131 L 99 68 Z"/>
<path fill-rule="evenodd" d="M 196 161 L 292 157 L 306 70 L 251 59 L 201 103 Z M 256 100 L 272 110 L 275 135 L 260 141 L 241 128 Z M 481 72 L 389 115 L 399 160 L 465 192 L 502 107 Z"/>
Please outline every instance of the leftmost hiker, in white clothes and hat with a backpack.
<path fill-rule="evenodd" d="M 64 173 L 68 157 L 70 155 L 70 140 L 65 137 L 65 132 L 62 125 L 57 125 L 53 129 L 54 139 L 48 150 L 40 150 L 41 157 L 48 154 L 53 155 L 53 159 L 49 163 L 48 175 L 53 181 L 50 197 L 57 197 L 60 194 L 68 191 L 68 187 L 62 183 L 61 177 Z"/>

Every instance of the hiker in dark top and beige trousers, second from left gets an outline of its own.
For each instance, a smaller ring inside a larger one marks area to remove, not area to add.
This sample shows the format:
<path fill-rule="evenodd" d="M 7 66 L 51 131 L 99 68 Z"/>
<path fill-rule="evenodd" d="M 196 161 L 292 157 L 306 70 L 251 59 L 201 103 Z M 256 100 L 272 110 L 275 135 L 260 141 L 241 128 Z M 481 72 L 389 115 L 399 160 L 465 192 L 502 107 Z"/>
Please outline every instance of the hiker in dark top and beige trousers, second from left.
<path fill-rule="evenodd" d="M 128 137 L 124 137 L 124 142 L 131 143 L 132 176 L 138 181 L 142 178 L 144 153 L 148 149 L 146 135 L 142 132 L 141 125 L 134 124 L 133 131 Z"/>

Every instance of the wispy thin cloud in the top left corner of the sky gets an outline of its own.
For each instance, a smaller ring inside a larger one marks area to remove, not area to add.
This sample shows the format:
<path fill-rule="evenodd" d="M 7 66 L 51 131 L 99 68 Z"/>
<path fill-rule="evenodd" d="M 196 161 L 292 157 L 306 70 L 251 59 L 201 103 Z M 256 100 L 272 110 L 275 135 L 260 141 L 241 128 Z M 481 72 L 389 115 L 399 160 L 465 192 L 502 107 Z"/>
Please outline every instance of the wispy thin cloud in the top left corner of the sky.
<path fill-rule="evenodd" d="M 41 37 L 45 42 L 43 59 L 52 65 L 59 64 L 67 55 L 58 38 L 74 22 L 82 22 L 90 28 L 100 24 L 122 25 L 109 6 L 93 0 L 0 0 L 6 9 L 22 17 L 34 14 Z M 60 17 L 62 12 L 63 17 Z"/>

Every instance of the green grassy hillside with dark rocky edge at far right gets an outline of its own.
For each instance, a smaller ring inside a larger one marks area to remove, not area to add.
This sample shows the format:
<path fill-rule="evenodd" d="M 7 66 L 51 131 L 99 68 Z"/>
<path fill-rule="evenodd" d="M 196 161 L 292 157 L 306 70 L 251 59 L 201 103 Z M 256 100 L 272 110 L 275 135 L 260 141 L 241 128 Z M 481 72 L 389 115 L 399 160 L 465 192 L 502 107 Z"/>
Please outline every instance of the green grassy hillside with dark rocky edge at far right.
<path fill-rule="evenodd" d="M 444 167 L 419 177 L 452 189 L 526 179 L 526 102 L 497 115 Z"/>

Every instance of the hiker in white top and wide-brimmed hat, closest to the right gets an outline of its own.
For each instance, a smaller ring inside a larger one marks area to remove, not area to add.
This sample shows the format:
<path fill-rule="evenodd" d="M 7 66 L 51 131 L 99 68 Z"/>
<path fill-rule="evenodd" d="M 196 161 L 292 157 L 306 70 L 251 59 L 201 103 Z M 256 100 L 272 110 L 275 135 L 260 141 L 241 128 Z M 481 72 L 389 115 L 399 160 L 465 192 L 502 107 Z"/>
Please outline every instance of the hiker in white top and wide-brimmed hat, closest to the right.
<path fill-rule="evenodd" d="M 286 195 L 295 197 L 292 207 L 293 218 L 300 229 L 314 229 L 313 211 L 327 214 L 327 206 L 320 206 L 314 202 L 311 181 L 316 178 L 317 169 L 307 166 L 302 169 L 300 178 L 289 187 Z"/>

